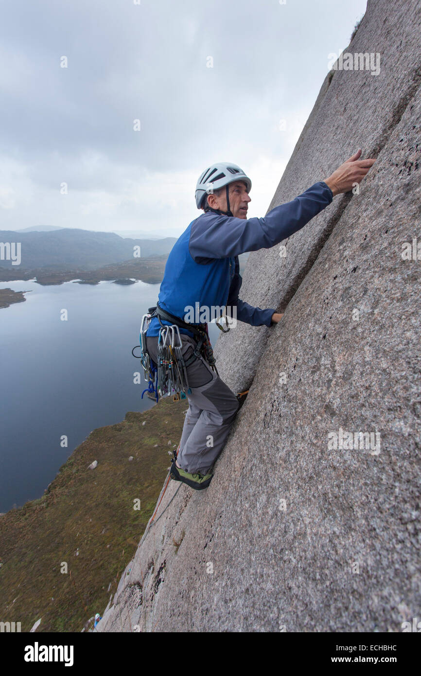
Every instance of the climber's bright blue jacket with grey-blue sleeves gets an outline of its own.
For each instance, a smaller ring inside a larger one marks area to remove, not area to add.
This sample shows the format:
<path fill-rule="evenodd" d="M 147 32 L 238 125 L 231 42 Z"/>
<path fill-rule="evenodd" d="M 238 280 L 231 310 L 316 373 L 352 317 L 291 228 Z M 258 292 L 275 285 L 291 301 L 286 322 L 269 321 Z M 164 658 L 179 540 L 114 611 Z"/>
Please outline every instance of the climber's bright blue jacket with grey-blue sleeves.
<path fill-rule="evenodd" d="M 237 307 L 237 319 L 253 327 L 270 326 L 276 308 L 253 308 L 239 298 L 242 279 L 239 254 L 270 249 L 301 230 L 333 199 L 324 183 L 314 183 L 291 202 L 280 204 L 264 218 L 235 218 L 205 212 L 180 235 L 168 256 L 158 303 L 164 310 L 188 321 L 187 308 Z M 229 314 L 229 313 L 228 313 Z M 200 319 L 198 321 L 201 321 Z M 162 320 L 163 324 L 170 324 Z M 154 317 L 147 336 L 159 334 Z M 191 331 L 180 329 L 194 337 Z"/>

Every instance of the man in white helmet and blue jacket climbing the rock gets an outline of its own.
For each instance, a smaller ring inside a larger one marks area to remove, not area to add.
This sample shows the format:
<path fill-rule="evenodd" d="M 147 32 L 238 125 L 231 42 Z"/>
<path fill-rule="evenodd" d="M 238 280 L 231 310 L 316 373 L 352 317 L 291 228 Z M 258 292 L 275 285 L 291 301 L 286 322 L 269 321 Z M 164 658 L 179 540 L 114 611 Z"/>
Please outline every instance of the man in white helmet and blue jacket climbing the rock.
<path fill-rule="evenodd" d="M 272 209 L 264 218 L 247 219 L 251 180 L 236 164 L 219 162 L 199 176 L 196 206 L 203 214 L 180 235 L 166 262 L 158 308 L 170 313 L 168 320 L 154 316 L 146 332 L 147 352 L 157 364 L 158 335 L 162 325 L 175 318 L 187 322 L 187 308 L 237 308 L 237 319 L 252 326 L 270 327 L 282 318 L 276 308 L 254 308 L 239 299 L 242 279 L 239 254 L 269 249 L 299 231 L 332 201 L 360 183 L 374 160 L 352 155 L 329 178 L 309 187 L 302 195 Z M 189 323 L 189 322 L 187 322 Z M 193 323 L 193 322 L 191 322 Z M 201 324 L 193 324 L 200 326 Z M 206 327 L 207 328 L 207 327 Z M 194 331 L 180 327 L 182 356 L 195 352 Z M 178 455 L 170 476 L 195 489 L 207 487 L 213 466 L 239 410 L 239 400 L 205 358 L 194 356 L 187 366 L 187 411 Z"/>

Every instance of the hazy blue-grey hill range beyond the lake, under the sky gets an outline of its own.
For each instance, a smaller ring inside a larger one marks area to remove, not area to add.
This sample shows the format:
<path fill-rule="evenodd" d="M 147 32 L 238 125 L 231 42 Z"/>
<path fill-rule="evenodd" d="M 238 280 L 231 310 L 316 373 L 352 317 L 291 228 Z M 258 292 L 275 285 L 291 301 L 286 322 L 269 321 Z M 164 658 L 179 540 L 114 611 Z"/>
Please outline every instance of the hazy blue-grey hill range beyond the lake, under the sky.
<path fill-rule="evenodd" d="M 141 247 L 141 258 L 168 256 L 176 237 L 157 240 L 124 239 L 115 233 L 61 228 L 49 232 L 3 230 L 0 231 L 0 242 L 21 243 L 20 265 L 12 265 L 10 260 L 0 260 L 3 268 L 63 270 L 71 266 L 79 270 L 95 270 L 133 258 L 135 245 Z"/>

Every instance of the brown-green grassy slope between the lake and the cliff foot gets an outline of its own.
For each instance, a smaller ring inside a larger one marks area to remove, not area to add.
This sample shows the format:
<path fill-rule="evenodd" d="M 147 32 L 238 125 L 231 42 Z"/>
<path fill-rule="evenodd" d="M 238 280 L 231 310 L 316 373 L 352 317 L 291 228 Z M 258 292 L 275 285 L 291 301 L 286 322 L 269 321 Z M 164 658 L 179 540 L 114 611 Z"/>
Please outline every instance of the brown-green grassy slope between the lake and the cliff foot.
<path fill-rule="evenodd" d="M 37 631 L 80 631 L 102 613 L 153 512 L 187 406 L 164 397 L 146 412 L 95 429 L 42 498 L 0 516 L 1 621 L 29 631 L 42 617 Z M 93 460 L 98 466 L 89 470 Z M 60 572 L 63 561 L 67 574 Z"/>

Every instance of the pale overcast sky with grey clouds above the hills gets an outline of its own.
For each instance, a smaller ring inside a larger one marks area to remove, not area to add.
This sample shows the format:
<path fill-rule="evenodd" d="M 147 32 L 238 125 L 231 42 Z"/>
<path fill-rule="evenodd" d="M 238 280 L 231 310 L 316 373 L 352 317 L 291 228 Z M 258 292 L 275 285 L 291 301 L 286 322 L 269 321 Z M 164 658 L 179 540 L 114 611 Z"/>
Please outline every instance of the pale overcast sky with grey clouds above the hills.
<path fill-rule="evenodd" d="M 264 216 L 366 0 L 0 7 L 0 229 L 178 237 L 213 162 L 245 170 Z"/>

